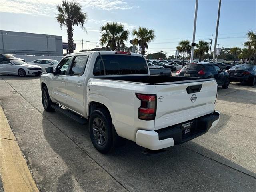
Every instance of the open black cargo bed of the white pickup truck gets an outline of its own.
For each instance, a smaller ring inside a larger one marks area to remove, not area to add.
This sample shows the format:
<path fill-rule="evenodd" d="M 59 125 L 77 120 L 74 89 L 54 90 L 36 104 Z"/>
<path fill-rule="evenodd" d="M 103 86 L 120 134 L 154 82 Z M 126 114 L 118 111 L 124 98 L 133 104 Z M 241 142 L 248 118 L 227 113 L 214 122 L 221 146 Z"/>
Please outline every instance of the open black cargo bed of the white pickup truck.
<path fill-rule="evenodd" d="M 211 81 L 212 78 L 198 78 L 198 77 L 174 77 L 174 76 L 119 76 L 119 77 L 103 77 L 101 79 L 115 80 L 115 81 L 128 81 L 140 84 L 179 84 L 186 82 L 202 82 Z"/>

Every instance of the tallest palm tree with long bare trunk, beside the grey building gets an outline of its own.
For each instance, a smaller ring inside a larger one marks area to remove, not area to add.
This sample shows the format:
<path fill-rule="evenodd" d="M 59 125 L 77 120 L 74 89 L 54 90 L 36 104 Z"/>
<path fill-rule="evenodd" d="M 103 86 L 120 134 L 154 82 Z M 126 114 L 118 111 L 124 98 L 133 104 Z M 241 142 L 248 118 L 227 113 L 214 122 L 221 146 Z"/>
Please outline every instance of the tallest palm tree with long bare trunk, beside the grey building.
<path fill-rule="evenodd" d="M 67 0 L 63 0 L 61 5 L 57 5 L 57 9 L 59 14 L 56 18 L 58 23 L 60 23 L 60 28 L 66 26 L 68 33 L 68 52 L 73 53 L 73 27 L 74 25 L 80 25 L 85 30 L 84 24 L 87 21 L 87 13 L 82 12 L 82 6 L 75 1 L 68 2 Z"/>

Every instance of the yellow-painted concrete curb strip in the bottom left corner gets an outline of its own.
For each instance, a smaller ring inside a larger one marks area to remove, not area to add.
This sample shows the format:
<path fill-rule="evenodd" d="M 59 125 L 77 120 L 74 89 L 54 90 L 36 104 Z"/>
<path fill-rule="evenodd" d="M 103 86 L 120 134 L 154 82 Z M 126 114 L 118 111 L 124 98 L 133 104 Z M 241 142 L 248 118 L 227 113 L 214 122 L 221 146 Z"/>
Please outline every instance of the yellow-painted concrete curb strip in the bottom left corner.
<path fill-rule="evenodd" d="M 0 106 L 0 192 L 39 192 Z"/>

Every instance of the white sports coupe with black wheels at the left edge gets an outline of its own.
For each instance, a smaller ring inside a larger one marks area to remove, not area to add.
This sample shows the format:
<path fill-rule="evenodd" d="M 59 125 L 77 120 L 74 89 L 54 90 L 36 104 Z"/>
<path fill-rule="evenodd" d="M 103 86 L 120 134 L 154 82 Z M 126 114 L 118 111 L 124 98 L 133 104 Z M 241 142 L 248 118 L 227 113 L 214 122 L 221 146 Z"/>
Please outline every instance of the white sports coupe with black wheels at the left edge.
<path fill-rule="evenodd" d="M 38 65 L 30 65 L 21 60 L 2 60 L 0 62 L 0 74 L 18 75 L 20 77 L 30 75 L 42 75 L 43 70 Z"/>

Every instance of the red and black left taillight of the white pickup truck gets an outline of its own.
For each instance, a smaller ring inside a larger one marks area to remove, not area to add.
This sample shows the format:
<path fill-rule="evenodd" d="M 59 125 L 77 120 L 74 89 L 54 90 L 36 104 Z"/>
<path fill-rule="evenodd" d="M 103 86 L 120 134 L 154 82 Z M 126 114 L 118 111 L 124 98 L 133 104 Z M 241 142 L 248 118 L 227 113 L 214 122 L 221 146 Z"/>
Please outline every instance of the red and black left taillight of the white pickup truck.
<path fill-rule="evenodd" d="M 154 120 L 156 116 L 156 94 L 136 93 L 140 100 L 138 108 L 138 118 L 141 120 Z"/>

